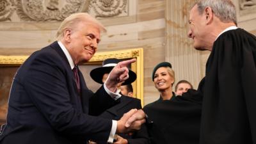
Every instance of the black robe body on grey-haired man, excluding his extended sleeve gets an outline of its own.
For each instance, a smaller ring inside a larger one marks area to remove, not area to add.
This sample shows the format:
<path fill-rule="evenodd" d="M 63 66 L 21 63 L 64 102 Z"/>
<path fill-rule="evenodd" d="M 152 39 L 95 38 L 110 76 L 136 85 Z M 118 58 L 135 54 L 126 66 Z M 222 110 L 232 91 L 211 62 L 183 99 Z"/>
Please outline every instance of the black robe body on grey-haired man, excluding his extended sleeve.
<path fill-rule="evenodd" d="M 207 61 L 201 144 L 256 143 L 256 37 L 226 31 Z"/>

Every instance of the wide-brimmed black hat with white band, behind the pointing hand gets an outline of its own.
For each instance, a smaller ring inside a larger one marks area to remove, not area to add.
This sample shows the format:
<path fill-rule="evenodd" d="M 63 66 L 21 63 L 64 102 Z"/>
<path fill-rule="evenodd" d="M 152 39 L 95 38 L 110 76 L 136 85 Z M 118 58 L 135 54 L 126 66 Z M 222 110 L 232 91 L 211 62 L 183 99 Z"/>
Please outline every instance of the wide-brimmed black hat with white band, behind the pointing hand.
<path fill-rule="evenodd" d="M 103 75 L 109 74 L 111 72 L 111 70 L 113 69 L 113 67 L 115 67 L 117 65 L 117 63 L 119 63 L 120 61 L 122 61 L 122 60 L 118 60 L 116 58 L 108 58 L 102 62 L 102 67 L 94 68 L 90 72 L 90 76 L 97 83 L 103 84 L 102 83 Z M 122 83 L 122 85 L 131 84 L 132 82 L 134 82 L 136 80 L 136 78 L 137 78 L 137 76 L 136 76 L 135 72 L 133 72 L 132 70 L 129 69 L 129 78 L 126 79 L 124 81 L 124 83 Z"/>

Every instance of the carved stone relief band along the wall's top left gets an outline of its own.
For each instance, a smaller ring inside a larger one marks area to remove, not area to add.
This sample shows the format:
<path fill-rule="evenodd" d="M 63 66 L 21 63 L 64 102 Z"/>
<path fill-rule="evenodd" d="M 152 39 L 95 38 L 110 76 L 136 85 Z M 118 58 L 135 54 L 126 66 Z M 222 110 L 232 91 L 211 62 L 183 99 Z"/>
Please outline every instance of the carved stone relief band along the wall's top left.
<path fill-rule="evenodd" d="M 127 0 L 0 0 L 0 21 L 62 21 L 71 13 L 120 17 L 128 15 Z"/>

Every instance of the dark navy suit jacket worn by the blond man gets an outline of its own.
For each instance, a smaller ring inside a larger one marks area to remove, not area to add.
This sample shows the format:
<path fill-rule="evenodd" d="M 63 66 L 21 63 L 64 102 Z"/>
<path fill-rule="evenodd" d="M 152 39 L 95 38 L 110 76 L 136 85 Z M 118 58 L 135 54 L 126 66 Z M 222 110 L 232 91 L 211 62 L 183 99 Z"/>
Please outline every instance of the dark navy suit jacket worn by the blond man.
<path fill-rule="evenodd" d="M 106 143 L 111 120 L 88 113 L 99 115 L 116 102 L 103 87 L 96 93 L 88 90 L 80 71 L 79 77 L 81 95 L 57 42 L 31 54 L 13 79 L 0 143 Z"/>

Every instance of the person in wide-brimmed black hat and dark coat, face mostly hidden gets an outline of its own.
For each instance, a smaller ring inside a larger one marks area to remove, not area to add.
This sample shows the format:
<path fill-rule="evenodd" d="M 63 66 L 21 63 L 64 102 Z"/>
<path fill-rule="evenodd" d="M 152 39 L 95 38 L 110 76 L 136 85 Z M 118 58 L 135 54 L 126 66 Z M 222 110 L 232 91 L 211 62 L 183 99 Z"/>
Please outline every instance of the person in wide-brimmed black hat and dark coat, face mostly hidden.
<path fill-rule="evenodd" d="M 90 72 L 92 79 L 100 84 L 104 84 L 106 79 L 108 79 L 109 72 L 117 65 L 118 60 L 116 58 L 109 58 L 102 62 L 102 67 L 93 69 Z M 124 81 L 124 83 L 118 84 L 118 90 L 120 91 L 120 86 L 125 86 L 126 84 L 131 84 L 136 80 L 136 74 L 131 69 L 129 69 L 129 78 Z M 122 95 L 122 96 L 121 96 Z M 120 91 L 120 103 L 113 106 L 112 108 L 104 111 L 101 116 L 102 118 L 111 118 L 113 120 L 119 120 L 124 113 L 127 113 L 131 109 L 141 109 L 141 100 L 127 95 L 122 94 Z M 141 125 L 139 131 L 134 132 L 133 134 L 118 134 L 116 137 L 116 143 L 136 143 L 136 144 L 147 144 L 149 143 L 148 132 L 145 125 Z M 115 143 L 114 143 L 115 144 Z"/>

